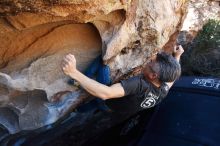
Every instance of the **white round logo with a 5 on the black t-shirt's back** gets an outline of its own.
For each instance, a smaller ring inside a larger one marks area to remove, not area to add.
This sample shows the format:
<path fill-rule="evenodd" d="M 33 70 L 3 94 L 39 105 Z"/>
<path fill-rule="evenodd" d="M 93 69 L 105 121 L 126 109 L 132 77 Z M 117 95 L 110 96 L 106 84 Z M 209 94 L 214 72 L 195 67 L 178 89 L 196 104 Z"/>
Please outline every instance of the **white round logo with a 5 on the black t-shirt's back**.
<path fill-rule="evenodd" d="M 156 104 L 156 100 L 159 97 L 154 95 L 153 93 L 149 92 L 149 94 L 147 94 L 147 97 L 144 99 L 144 101 L 141 103 L 141 107 L 142 108 L 150 108 L 153 107 Z"/>

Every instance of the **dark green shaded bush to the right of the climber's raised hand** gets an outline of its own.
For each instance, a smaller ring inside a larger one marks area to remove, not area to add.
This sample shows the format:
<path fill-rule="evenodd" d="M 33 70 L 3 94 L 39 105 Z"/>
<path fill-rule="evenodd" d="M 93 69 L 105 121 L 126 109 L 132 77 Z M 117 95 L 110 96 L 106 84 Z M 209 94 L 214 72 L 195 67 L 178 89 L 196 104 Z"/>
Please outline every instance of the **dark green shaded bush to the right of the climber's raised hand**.
<path fill-rule="evenodd" d="M 220 77 L 220 21 L 209 20 L 183 58 L 185 74 Z"/>

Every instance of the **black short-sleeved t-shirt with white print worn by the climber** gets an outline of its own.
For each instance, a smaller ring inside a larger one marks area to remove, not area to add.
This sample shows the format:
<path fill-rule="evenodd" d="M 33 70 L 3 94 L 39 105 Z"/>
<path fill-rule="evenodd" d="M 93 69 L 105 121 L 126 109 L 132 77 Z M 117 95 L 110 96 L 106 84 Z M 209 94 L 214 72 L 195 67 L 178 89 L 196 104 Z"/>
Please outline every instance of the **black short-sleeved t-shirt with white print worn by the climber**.
<path fill-rule="evenodd" d="M 160 103 L 167 95 L 169 87 L 163 83 L 159 88 L 144 79 L 143 74 L 122 80 L 125 96 L 108 99 L 106 105 L 115 112 L 136 113 Z"/>

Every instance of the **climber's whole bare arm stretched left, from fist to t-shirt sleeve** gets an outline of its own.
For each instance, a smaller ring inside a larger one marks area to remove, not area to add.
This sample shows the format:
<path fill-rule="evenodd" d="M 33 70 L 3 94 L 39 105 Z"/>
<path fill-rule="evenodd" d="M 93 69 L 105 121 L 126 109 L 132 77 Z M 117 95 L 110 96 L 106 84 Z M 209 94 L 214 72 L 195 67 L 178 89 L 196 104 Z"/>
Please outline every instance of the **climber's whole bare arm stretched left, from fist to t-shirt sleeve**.
<path fill-rule="evenodd" d="M 62 69 L 66 75 L 77 80 L 86 91 L 96 97 L 105 100 L 110 98 L 119 98 L 125 95 L 125 91 L 121 83 L 116 83 L 109 87 L 82 74 L 79 70 L 77 70 L 76 59 L 72 54 L 68 54 L 64 58 Z"/>

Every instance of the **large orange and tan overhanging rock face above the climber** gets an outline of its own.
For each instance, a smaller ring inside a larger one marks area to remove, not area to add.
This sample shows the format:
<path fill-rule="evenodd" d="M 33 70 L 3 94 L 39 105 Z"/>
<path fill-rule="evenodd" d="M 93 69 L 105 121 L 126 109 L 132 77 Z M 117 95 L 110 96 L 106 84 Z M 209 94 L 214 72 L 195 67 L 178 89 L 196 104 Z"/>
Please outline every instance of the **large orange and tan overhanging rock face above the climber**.
<path fill-rule="evenodd" d="M 133 73 L 176 37 L 186 8 L 186 0 L 1 1 L 0 105 L 17 92 L 50 100 L 77 90 L 60 68 L 68 53 L 81 71 L 102 53 L 113 81 Z"/>

